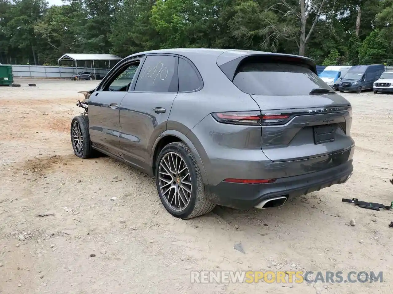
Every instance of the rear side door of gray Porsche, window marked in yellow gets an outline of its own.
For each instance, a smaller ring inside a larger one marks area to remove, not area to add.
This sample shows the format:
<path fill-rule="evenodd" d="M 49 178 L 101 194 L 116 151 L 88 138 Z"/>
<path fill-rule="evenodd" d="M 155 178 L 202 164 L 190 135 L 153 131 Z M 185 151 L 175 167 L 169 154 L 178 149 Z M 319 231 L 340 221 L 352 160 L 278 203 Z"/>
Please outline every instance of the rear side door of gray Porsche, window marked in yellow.
<path fill-rule="evenodd" d="M 151 145 L 166 129 L 173 100 L 178 93 L 178 56 L 145 57 L 120 105 L 120 147 L 125 160 L 148 169 Z"/>

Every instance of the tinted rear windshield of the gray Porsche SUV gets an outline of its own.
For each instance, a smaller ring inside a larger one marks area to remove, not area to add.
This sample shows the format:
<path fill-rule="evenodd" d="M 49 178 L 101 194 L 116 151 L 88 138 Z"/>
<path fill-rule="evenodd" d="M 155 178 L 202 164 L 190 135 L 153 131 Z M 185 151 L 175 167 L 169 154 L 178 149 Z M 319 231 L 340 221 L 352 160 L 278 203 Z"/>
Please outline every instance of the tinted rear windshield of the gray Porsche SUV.
<path fill-rule="evenodd" d="M 254 95 L 309 95 L 312 89 L 331 88 L 309 68 L 284 63 L 255 62 L 241 65 L 233 83 Z"/>

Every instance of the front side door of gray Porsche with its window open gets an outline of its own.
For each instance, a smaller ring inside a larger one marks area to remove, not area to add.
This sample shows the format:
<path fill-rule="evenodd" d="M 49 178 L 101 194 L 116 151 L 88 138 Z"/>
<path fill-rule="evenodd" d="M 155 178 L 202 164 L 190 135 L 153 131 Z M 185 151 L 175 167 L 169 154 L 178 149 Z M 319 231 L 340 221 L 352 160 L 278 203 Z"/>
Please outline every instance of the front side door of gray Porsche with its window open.
<path fill-rule="evenodd" d="M 89 131 L 94 147 L 123 158 L 119 144 L 119 109 L 141 63 L 140 58 L 117 65 L 89 98 Z"/>

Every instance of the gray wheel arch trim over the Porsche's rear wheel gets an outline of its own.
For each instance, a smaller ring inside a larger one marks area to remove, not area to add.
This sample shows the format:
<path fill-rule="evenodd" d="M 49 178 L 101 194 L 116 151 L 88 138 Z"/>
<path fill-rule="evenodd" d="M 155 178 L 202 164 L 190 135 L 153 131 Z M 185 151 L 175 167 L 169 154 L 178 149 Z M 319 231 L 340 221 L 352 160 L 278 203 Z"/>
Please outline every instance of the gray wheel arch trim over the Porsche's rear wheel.
<path fill-rule="evenodd" d="M 187 135 L 189 133 L 191 133 L 191 131 L 189 131 L 187 133 Z M 150 156 L 150 166 L 152 167 L 153 175 L 155 176 L 156 159 L 157 159 L 158 154 L 160 154 L 160 151 L 162 150 L 162 148 L 165 147 L 169 143 L 183 142 L 183 143 L 187 144 L 187 146 L 193 152 L 193 154 L 195 156 L 195 160 L 198 163 L 198 166 L 199 166 L 199 169 L 201 172 L 202 180 L 204 183 L 208 184 L 208 177 L 206 175 L 206 170 L 205 170 L 204 164 L 202 162 L 202 158 L 201 158 L 198 150 L 196 149 L 195 144 L 193 142 L 191 142 L 191 140 L 188 138 L 187 135 L 185 135 L 179 131 L 167 130 L 167 131 L 162 132 L 160 134 L 160 136 L 158 136 L 158 138 L 153 143 L 153 148 L 152 148 L 152 152 L 151 152 L 151 156 Z M 193 137 L 195 137 L 195 136 L 193 136 Z M 196 137 L 195 137 L 195 140 L 198 140 L 198 139 L 196 139 Z M 203 149 L 200 142 L 198 142 L 198 143 L 200 145 L 200 148 Z M 201 152 L 205 152 L 205 151 L 202 150 Z"/>

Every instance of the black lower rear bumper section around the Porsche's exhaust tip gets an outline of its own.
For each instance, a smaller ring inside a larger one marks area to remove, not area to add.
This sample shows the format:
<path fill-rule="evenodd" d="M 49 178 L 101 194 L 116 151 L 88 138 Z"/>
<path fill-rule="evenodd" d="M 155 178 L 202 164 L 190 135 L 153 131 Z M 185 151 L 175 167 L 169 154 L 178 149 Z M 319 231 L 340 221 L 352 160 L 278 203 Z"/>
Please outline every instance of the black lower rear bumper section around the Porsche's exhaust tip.
<path fill-rule="evenodd" d="M 206 185 L 206 190 L 209 198 L 218 205 L 250 209 L 261 201 L 275 196 L 286 196 L 291 199 L 331 185 L 345 183 L 353 172 L 352 162 L 351 159 L 324 171 L 280 178 L 271 184 L 221 182 L 218 185 Z"/>

